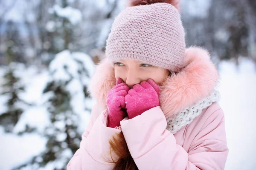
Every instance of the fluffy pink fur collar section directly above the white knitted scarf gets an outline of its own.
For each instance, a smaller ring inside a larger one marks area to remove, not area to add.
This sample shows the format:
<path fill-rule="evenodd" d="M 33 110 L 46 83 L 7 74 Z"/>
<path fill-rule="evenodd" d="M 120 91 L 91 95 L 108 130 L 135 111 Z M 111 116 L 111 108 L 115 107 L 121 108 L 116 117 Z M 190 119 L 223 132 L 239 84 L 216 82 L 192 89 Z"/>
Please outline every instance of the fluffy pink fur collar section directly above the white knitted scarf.
<path fill-rule="evenodd" d="M 166 118 L 207 97 L 218 84 L 219 74 L 208 51 L 188 48 L 184 63 L 186 67 L 168 77 L 160 87 L 160 107 Z"/>

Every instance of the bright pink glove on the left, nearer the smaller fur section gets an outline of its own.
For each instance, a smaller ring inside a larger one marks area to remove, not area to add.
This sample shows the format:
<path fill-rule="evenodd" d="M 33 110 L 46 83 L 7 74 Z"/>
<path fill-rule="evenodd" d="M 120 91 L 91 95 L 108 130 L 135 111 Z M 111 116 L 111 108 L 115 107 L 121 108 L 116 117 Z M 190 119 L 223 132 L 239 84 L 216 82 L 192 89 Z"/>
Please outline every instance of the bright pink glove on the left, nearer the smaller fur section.
<path fill-rule="evenodd" d="M 108 107 L 108 127 L 120 126 L 120 121 L 127 116 L 125 111 L 125 96 L 128 94 L 129 87 L 118 79 L 116 86 L 112 88 L 107 95 Z"/>

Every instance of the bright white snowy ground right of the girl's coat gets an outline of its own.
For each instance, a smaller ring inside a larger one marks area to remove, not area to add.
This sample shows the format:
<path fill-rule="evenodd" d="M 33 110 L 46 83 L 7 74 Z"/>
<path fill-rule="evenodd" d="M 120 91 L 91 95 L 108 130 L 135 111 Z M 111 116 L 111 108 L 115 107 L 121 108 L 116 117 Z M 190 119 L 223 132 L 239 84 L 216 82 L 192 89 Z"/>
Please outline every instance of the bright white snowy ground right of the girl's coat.
<path fill-rule="evenodd" d="M 226 170 L 256 169 L 256 68 L 248 59 L 234 63 L 221 62 L 221 108 L 229 155 Z"/>

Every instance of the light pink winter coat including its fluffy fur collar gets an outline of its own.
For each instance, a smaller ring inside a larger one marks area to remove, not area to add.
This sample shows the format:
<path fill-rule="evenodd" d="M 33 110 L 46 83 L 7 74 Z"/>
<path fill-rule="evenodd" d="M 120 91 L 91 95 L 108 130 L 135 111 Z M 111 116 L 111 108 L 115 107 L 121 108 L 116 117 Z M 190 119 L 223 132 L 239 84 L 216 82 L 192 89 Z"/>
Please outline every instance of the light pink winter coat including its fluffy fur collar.
<path fill-rule="evenodd" d="M 103 61 L 92 79 L 91 93 L 96 98 L 80 149 L 67 170 L 113 170 L 109 140 L 116 133 L 125 136 L 129 151 L 140 170 L 224 170 L 228 148 L 224 113 L 214 102 L 189 125 L 172 134 L 166 119 L 206 97 L 218 83 L 218 72 L 207 51 L 188 48 L 186 67 L 169 77 L 160 87 L 160 107 L 151 108 L 121 126 L 107 127 L 105 101 L 115 85 L 113 67 Z"/>

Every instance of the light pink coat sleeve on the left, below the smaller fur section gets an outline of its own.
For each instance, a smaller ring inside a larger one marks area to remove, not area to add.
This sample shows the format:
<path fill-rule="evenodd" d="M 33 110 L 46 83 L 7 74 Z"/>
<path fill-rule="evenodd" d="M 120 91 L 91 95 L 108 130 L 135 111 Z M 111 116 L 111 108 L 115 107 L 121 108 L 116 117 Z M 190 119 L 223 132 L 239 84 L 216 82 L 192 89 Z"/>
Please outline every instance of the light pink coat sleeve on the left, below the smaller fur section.
<path fill-rule="evenodd" d="M 120 133 L 121 127 L 107 127 L 108 111 L 98 113 L 98 110 L 95 105 L 80 148 L 67 164 L 67 170 L 113 170 L 114 164 L 108 163 L 111 160 L 109 139 Z"/>

